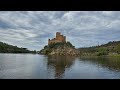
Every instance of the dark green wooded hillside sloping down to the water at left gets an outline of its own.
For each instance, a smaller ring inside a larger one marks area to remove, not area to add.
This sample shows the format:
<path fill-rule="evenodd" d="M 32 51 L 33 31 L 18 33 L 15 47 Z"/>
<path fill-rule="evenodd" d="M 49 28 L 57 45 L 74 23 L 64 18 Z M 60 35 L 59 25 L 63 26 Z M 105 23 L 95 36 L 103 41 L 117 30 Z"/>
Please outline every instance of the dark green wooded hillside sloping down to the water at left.
<path fill-rule="evenodd" d="M 36 51 L 30 51 L 27 48 L 19 48 L 17 46 L 0 42 L 0 53 L 36 53 Z"/>

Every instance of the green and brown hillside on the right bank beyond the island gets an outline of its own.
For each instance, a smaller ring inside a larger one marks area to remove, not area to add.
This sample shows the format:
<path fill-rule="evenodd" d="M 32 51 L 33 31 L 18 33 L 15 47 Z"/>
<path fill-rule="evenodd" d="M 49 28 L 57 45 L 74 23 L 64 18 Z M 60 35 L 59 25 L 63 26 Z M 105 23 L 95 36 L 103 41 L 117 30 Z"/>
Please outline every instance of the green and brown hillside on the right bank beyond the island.
<path fill-rule="evenodd" d="M 81 55 L 120 55 L 120 41 L 113 41 L 100 46 L 79 48 Z"/>

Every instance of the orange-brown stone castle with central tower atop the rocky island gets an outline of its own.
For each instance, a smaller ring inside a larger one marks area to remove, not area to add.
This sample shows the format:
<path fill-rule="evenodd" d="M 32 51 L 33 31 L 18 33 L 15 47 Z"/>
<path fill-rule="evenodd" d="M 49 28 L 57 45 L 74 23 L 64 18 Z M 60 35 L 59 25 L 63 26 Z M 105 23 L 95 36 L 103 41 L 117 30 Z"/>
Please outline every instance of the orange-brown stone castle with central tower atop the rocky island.
<path fill-rule="evenodd" d="M 66 36 L 63 36 L 60 34 L 60 32 L 56 33 L 56 38 L 53 39 L 48 39 L 48 45 L 52 43 L 57 43 L 57 42 L 66 42 Z"/>

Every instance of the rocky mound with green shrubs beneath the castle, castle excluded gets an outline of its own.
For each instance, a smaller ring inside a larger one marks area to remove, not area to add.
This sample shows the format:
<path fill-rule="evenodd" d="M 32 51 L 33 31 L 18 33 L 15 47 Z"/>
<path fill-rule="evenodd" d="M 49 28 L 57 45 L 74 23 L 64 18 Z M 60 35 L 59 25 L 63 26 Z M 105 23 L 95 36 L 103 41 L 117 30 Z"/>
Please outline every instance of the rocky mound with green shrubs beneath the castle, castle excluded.
<path fill-rule="evenodd" d="M 79 55 L 79 51 L 70 42 L 60 42 L 45 46 L 40 54 L 76 56 Z"/>

